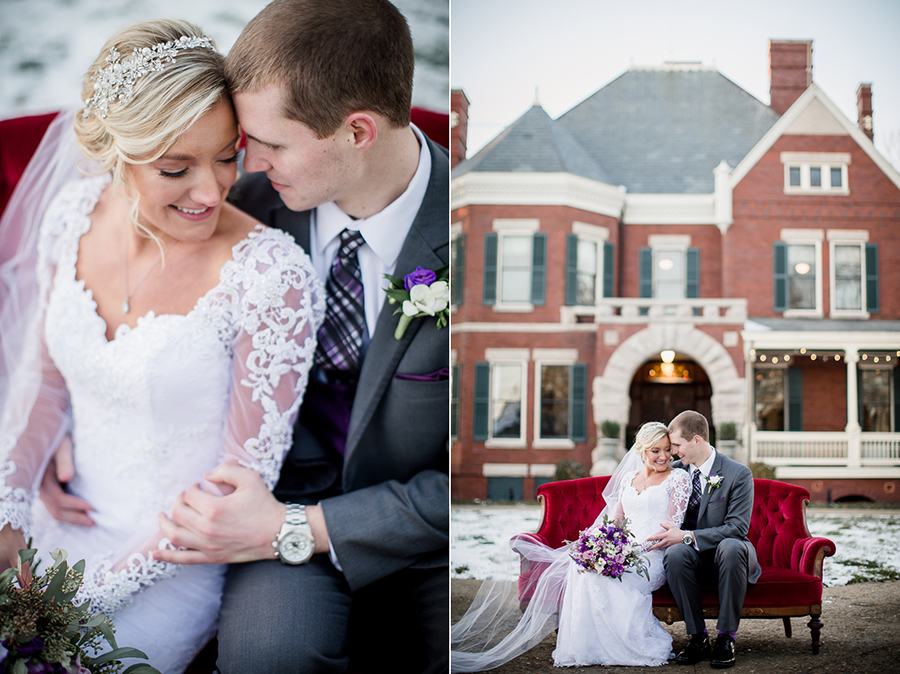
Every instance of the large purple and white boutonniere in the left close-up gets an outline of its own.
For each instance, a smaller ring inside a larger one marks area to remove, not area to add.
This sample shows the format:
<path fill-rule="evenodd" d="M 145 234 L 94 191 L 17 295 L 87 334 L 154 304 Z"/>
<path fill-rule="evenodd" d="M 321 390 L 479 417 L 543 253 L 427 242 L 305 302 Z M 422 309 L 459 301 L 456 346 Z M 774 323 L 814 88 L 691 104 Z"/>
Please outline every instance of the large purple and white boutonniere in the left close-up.
<path fill-rule="evenodd" d="M 390 281 L 384 292 L 391 304 L 400 304 L 394 315 L 400 314 L 394 339 L 403 337 L 410 321 L 422 316 L 437 316 L 437 329 L 440 330 L 450 319 L 450 281 L 447 276 L 449 265 L 439 269 L 422 269 L 416 267 L 403 278 L 385 274 Z"/>

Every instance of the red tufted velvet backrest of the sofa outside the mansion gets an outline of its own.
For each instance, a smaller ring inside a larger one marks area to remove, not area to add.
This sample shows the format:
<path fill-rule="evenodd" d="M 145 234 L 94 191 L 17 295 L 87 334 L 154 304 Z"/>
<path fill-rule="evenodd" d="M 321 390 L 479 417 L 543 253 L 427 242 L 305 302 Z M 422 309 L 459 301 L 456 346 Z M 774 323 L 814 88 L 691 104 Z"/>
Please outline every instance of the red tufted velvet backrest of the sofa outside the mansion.
<path fill-rule="evenodd" d="M 543 495 L 544 521 L 540 534 L 556 547 L 574 541 L 605 505 L 603 489 L 609 476 L 549 482 L 538 488 Z M 809 536 L 805 507 L 809 492 L 785 482 L 754 480 L 753 514 L 747 538 L 763 566 L 797 568 L 802 540 Z"/>

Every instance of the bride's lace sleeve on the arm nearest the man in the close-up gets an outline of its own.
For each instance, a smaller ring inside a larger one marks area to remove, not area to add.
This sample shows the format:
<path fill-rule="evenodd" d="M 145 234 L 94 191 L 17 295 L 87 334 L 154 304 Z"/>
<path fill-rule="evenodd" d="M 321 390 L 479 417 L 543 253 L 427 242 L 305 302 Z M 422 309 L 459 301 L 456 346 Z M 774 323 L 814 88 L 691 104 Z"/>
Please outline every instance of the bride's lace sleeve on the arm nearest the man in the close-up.
<path fill-rule="evenodd" d="M 251 235 L 235 261 L 230 308 L 223 313 L 223 326 L 234 328 L 234 369 L 222 462 L 257 471 L 272 489 L 306 390 L 324 292 L 309 258 L 281 231 Z M 221 493 L 215 485 L 204 488 Z M 106 559 L 89 565 L 82 596 L 97 610 L 115 612 L 141 588 L 177 573 L 177 565 L 149 554 L 171 547 L 156 531 L 115 564 Z"/>

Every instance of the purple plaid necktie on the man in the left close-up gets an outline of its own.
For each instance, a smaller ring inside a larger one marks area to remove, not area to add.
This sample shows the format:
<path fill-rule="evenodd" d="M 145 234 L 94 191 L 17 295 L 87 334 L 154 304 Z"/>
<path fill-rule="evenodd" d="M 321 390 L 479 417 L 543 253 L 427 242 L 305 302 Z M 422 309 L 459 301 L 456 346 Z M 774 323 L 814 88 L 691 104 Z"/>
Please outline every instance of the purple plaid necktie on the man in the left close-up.
<path fill-rule="evenodd" d="M 362 273 L 356 255 L 365 241 L 358 231 L 349 229 L 340 236 L 341 245 L 325 281 L 327 306 L 319 328 L 315 364 L 328 374 L 355 379 L 363 340 L 368 334 Z"/>

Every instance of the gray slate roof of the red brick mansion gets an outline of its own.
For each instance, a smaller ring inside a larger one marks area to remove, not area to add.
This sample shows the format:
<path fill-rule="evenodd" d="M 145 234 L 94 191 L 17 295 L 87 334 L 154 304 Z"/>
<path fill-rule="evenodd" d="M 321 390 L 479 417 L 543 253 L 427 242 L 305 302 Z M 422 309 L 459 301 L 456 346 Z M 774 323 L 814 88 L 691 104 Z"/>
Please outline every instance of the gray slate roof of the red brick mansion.
<path fill-rule="evenodd" d="M 538 118 L 544 125 L 543 143 L 537 142 Z M 709 194 L 719 162 L 736 166 L 777 120 L 771 108 L 715 70 L 634 69 L 555 121 L 543 109 L 532 108 L 459 164 L 453 176 L 469 171 L 576 173 L 577 167 L 578 175 L 594 177 L 589 170 L 593 165 L 607 176 L 597 180 L 625 185 L 629 192 Z M 550 165 L 549 138 L 557 139 L 554 169 L 542 168 Z"/>

